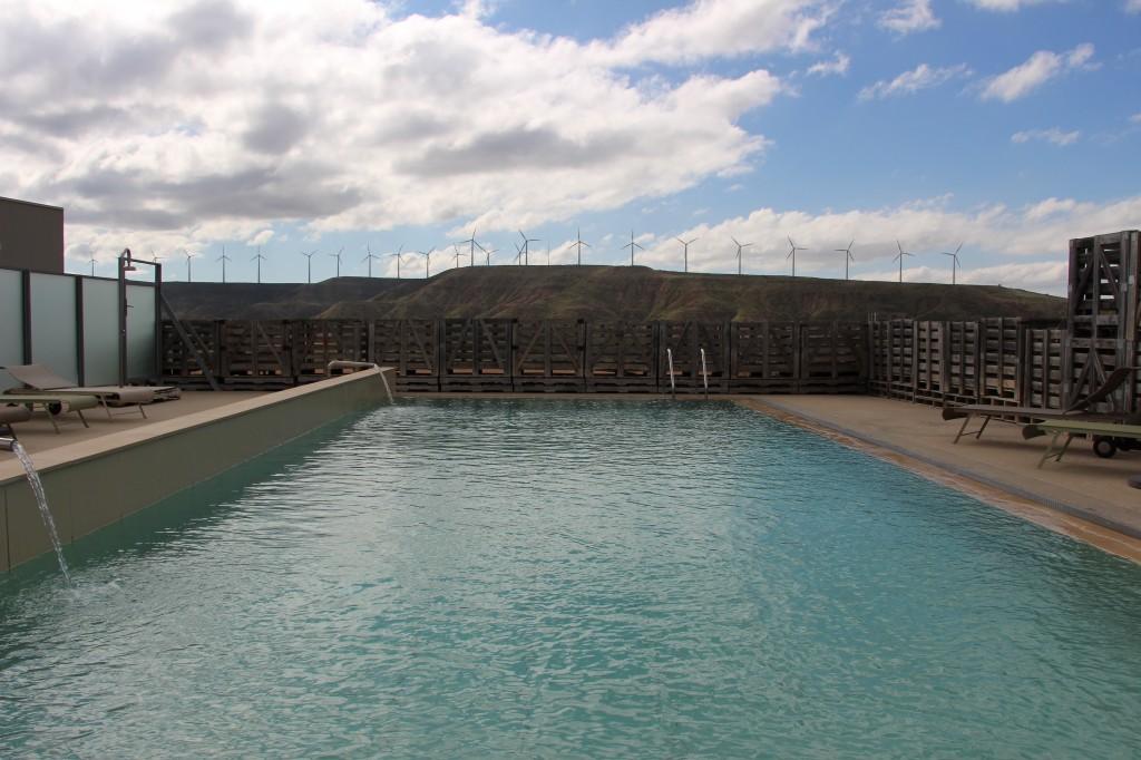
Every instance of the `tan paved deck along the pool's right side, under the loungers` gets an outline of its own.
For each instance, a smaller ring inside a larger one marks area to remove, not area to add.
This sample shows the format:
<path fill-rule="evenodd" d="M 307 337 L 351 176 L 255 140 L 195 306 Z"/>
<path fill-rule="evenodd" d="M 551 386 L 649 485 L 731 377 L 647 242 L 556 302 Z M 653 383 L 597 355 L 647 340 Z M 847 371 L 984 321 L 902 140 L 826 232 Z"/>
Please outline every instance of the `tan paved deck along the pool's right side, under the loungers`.
<path fill-rule="evenodd" d="M 1025 440 L 1013 425 L 992 421 L 981 438 L 964 437 L 953 444 L 962 420 L 944 421 L 931 406 L 868 396 L 737 401 L 788 415 L 1052 529 L 1141 561 L 1141 491 L 1126 483 L 1141 472 L 1141 452 L 1099 459 L 1087 442 L 1075 440 L 1061 462 L 1037 469 L 1049 438 Z"/>

